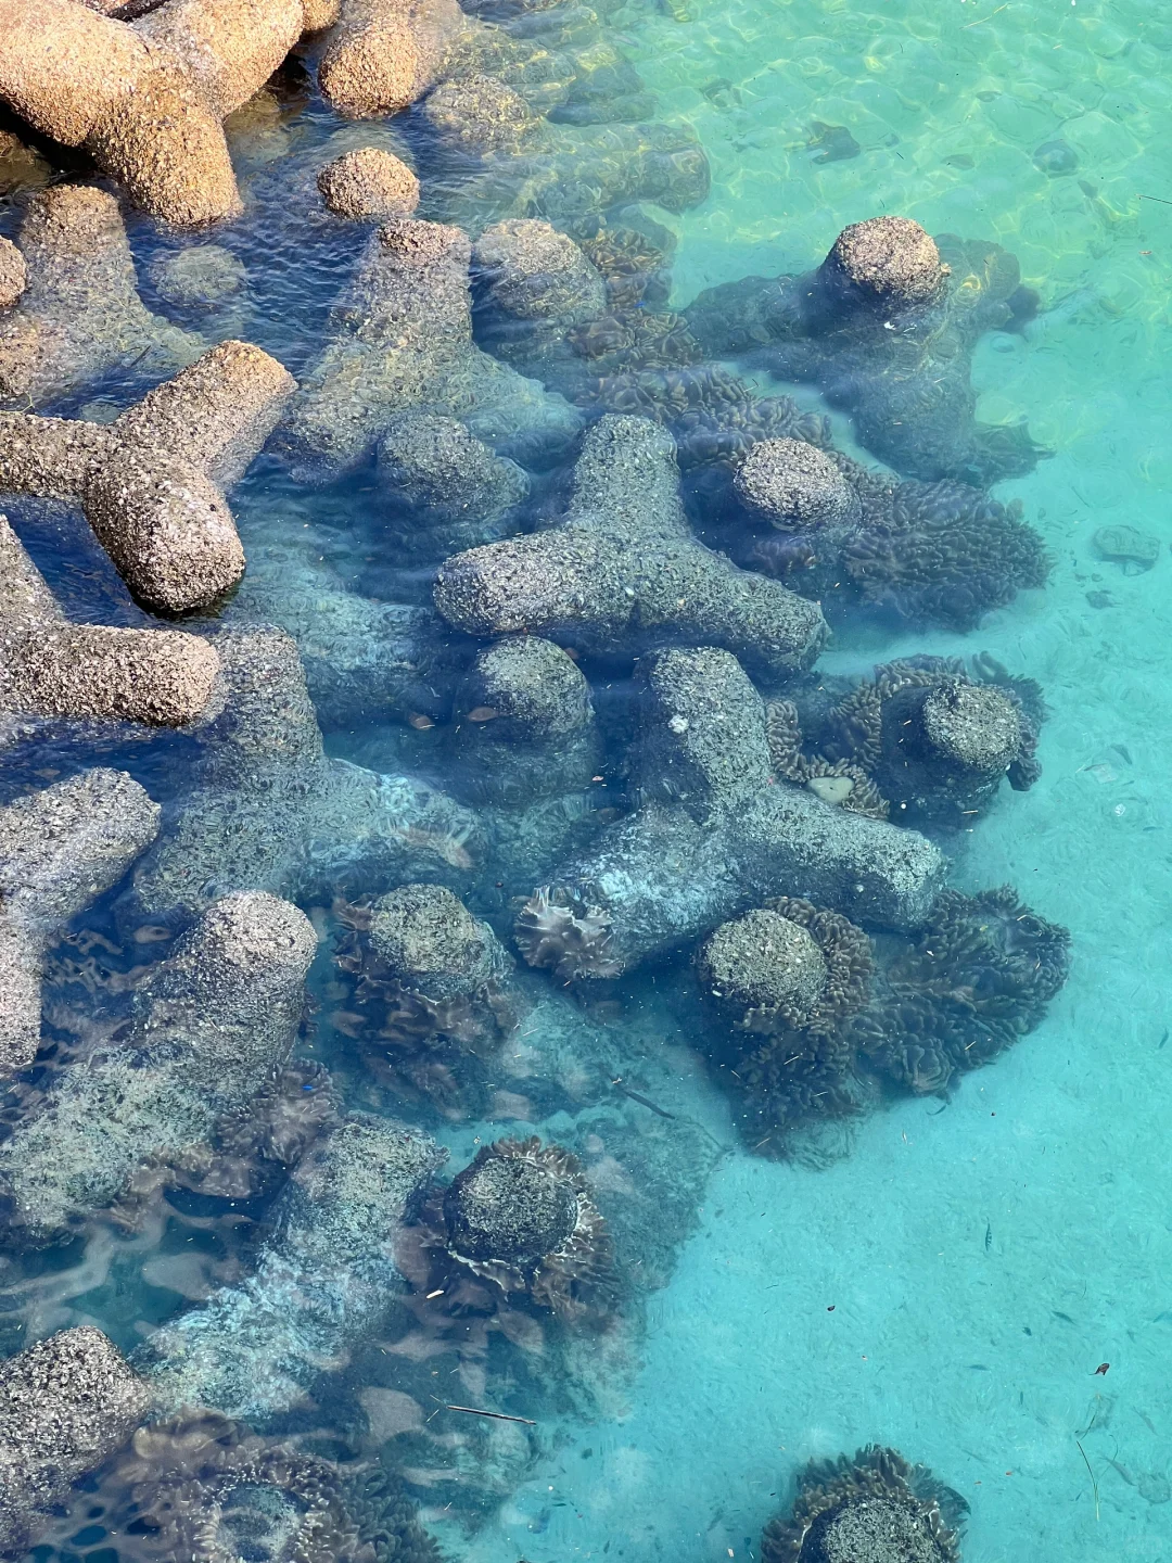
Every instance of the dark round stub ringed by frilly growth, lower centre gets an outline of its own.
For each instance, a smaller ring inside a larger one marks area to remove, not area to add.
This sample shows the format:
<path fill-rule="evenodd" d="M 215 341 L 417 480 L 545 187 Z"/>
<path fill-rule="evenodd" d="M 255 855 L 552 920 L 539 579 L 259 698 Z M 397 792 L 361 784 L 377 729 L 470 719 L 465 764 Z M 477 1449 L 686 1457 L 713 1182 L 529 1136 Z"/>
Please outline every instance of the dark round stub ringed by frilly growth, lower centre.
<path fill-rule="evenodd" d="M 447 1254 L 566 1318 L 599 1310 L 611 1249 L 577 1158 L 541 1139 L 483 1146 L 444 1194 Z"/>

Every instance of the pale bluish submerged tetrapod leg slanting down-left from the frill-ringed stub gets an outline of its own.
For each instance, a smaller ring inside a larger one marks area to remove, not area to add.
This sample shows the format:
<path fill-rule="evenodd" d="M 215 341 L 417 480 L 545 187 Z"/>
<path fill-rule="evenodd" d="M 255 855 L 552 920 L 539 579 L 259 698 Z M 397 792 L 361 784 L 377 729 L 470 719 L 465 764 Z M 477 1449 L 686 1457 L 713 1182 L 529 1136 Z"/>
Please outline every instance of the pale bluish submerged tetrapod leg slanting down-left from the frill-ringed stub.
<path fill-rule="evenodd" d="M 258 1422 L 303 1402 L 402 1293 L 395 1235 L 445 1160 L 417 1128 L 348 1114 L 286 1185 L 255 1274 L 134 1354 L 156 1408 Z"/>

